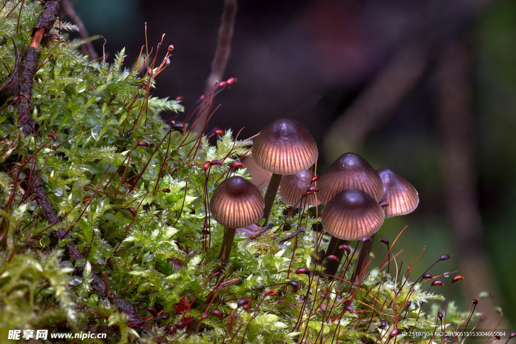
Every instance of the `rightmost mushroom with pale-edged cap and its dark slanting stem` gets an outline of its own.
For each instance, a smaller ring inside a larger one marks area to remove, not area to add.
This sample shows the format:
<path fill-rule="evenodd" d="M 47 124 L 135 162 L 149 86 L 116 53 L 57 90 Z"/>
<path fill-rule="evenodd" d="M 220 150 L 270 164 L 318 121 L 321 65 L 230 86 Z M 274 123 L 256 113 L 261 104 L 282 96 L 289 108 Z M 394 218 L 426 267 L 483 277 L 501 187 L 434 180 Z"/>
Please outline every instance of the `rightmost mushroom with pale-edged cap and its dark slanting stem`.
<path fill-rule="evenodd" d="M 380 180 L 383 185 L 383 196 L 380 200 L 380 205 L 385 211 L 385 218 L 406 215 L 413 212 L 419 204 L 419 196 L 414 186 L 401 177 L 395 171 L 389 168 L 380 168 L 377 170 Z M 371 237 L 372 240 L 362 243 L 360 253 L 357 259 L 355 271 L 351 276 L 353 282 L 363 269 L 367 257 L 373 247 L 375 235 Z"/>

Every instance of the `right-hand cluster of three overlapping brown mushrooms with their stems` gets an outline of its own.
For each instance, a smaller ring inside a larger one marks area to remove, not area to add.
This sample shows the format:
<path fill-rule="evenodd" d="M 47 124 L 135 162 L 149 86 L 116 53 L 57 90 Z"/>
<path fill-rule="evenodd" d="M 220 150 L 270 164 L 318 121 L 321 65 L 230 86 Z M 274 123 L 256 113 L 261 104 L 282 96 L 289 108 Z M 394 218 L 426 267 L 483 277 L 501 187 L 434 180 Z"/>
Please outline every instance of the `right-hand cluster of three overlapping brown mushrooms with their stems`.
<path fill-rule="evenodd" d="M 412 212 L 419 203 L 417 191 L 394 171 L 375 170 L 360 155 L 341 155 L 321 175 L 319 199 L 326 204 L 321 223 L 332 239 L 327 255 L 326 273 L 334 276 L 350 240 L 362 240 L 359 257 L 351 281 L 362 272 L 369 257 L 376 232 L 386 217 Z M 383 209 L 382 209 L 383 207 Z"/>

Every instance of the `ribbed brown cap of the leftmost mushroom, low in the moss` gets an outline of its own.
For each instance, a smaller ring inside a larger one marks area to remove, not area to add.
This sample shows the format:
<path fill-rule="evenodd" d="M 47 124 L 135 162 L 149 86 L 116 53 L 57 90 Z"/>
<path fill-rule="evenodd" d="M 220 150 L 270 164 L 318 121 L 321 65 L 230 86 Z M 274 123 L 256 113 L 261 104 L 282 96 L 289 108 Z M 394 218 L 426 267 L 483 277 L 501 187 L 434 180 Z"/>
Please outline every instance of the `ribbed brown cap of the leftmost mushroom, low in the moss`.
<path fill-rule="evenodd" d="M 239 176 L 221 182 L 209 201 L 209 210 L 227 228 L 249 226 L 263 216 L 262 193 L 249 180 Z"/>

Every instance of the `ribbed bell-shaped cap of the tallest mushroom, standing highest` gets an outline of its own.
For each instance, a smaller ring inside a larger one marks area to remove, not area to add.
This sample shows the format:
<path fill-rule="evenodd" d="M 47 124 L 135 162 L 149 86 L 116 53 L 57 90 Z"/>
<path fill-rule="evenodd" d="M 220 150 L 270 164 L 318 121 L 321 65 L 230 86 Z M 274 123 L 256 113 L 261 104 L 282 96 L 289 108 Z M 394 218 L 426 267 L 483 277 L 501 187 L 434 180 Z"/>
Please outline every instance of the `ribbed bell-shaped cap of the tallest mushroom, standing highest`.
<path fill-rule="evenodd" d="M 256 164 L 278 175 L 293 175 L 317 160 L 317 145 L 312 135 L 294 119 L 278 119 L 262 129 L 253 143 Z"/>

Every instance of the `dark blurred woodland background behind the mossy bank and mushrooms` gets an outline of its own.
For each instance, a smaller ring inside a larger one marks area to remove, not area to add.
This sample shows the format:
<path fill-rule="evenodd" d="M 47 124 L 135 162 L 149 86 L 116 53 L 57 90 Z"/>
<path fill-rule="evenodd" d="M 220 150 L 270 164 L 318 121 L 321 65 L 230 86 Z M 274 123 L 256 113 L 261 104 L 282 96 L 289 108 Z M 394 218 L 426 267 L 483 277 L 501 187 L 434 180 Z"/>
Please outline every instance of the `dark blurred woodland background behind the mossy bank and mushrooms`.
<path fill-rule="evenodd" d="M 107 60 L 125 46 L 125 63 L 133 65 L 145 22 L 150 46 L 166 34 L 165 46 L 175 49 L 155 95 L 183 96 L 187 111 L 206 89 L 224 6 L 235 3 L 72 2 L 89 34 L 105 37 Z M 238 1 L 234 23 L 225 18 L 234 35 L 218 79 L 238 82 L 217 96 L 222 105 L 208 130 L 245 127 L 244 138 L 291 117 L 317 140 L 319 174 L 348 151 L 396 170 L 421 198 L 414 213 L 389 218 L 378 234 L 392 243 L 409 226 L 393 249 L 402 249 L 403 272 L 425 246 L 413 274 L 449 254 L 431 271 L 458 270 L 442 277 L 440 292 L 464 275 L 452 298 L 469 310 L 487 291 L 479 327 L 493 328 L 501 306 L 501 327 L 512 323 L 514 331 L 516 2 Z M 93 42 L 99 56 L 103 43 Z"/>

